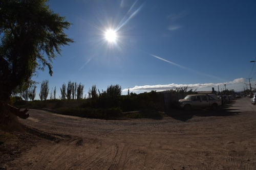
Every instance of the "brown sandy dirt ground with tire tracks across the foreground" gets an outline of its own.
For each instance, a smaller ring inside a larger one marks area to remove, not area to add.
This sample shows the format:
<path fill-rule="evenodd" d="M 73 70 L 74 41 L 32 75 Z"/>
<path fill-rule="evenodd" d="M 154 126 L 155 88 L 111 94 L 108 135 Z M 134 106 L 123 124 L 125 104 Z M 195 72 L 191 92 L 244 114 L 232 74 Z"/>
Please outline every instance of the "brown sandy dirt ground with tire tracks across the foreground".
<path fill-rule="evenodd" d="M 163 119 L 29 113 L 20 119 L 31 134 L 29 149 L 0 169 L 256 169 L 256 106 L 249 98 Z"/>

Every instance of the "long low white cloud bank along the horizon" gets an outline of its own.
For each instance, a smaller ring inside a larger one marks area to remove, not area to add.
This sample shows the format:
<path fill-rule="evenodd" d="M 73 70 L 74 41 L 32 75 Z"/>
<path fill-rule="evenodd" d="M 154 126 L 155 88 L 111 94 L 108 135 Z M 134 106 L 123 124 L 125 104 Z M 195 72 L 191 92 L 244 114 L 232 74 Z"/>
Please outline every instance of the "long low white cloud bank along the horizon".
<path fill-rule="evenodd" d="M 129 88 L 130 92 L 135 92 L 135 93 L 141 93 L 141 92 L 148 92 L 152 90 L 156 91 L 164 91 L 164 90 L 170 90 L 170 89 L 175 89 L 179 87 L 188 87 L 188 89 L 193 89 L 197 91 L 210 91 L 212 87 L 215 88 L 215 90 L 218 90 L 218 86 L 221 90 L 224 89 L 224 84 L 226 84 L 226 88 L 228 89 L 234 89 L 234 90 L 242 90 L 243 85 L 244 85 L 245 79 L 244 78 L 239 78 L 239 79 L 234 79 L 233 81 L 230 82 L 223 82 L 223 83 L 204 83 L 204 84 L 166 84 L 166 85 L 144 85 L 144 86 L 135 86 L 133 88 Z M 123 93 L 126 93 L 128 91 L 128 88 L 123 89 Z"/>

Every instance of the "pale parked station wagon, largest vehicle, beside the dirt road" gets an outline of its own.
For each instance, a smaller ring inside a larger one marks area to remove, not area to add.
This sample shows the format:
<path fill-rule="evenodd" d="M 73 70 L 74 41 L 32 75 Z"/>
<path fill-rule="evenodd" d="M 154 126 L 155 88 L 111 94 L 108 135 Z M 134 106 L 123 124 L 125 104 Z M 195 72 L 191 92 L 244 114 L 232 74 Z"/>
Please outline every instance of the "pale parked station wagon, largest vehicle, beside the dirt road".
<path fill-rule="evenodd" d="M 215 94 L 191 94 L 187 95 L 184 99 L 180 99 L 179 104 L 185 110 L 205 107 L 216 110 L 221 105 L 221 100 Z"/>

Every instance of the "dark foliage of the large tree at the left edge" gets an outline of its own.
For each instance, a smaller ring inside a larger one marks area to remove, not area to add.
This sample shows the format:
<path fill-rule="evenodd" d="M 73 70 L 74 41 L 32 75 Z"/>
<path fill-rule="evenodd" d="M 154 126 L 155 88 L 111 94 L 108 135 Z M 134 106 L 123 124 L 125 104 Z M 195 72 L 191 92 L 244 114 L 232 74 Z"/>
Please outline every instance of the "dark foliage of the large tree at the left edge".
<path fill-rule="evenodd" d="M 63 31 L 70 25 L 47 0 L 0 1 L 0 101 L 8 101 L 36 69 L 47 66 L 52 76 L 51 62 L 60 47 L 73 42 Z"/>

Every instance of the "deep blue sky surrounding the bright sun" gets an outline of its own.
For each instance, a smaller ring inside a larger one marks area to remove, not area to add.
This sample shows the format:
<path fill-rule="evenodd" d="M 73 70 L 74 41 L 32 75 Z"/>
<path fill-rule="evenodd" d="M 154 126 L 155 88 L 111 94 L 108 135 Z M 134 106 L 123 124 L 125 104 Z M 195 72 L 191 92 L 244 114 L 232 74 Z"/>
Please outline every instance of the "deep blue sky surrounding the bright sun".
<path fill-rule="evenodd" d="M 256 1 L 51 0 L 73 25 L 53 63 L 33 80 L 57 93 L 68 81 L 123 94 L 188 86 L 193 90 L 256 87 Z M 116 31 L 109 42 L 105 32 Z M 38 84 L 37 92 L 40 91 Z M 37 96 L 38 98 L 38 96 Z"/>

